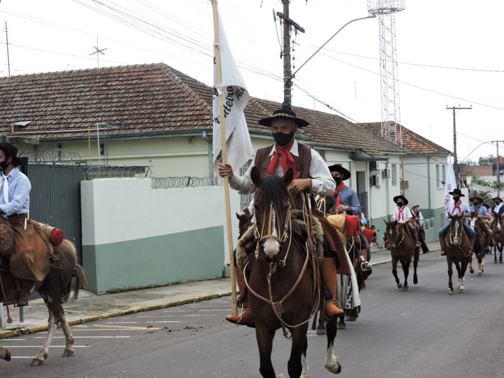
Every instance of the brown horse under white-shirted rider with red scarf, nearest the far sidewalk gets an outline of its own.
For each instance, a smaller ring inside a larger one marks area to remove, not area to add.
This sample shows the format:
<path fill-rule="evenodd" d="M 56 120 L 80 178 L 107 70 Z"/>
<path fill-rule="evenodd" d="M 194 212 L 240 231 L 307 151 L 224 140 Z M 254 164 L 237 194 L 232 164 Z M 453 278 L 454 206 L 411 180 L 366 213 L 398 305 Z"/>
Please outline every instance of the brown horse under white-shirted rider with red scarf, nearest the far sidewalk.
<path fill-rule="evenodd" d="M 385 233 L 389 240 L 390 255 L 392 257 L 392 274 L 396 279 L 398 289 L 403 291 L 408 290 L 408 275 L 411 259 L 413 259 L 413 283 L 418 283 L 418 276 L 416 275 L 416 268 L 418 266 L 418 259 L 420 256 L 420 247 L 415 246 L 415 240 L 409 234 L 408 226 L 406 224 L 399 224 L 397 220 L 387 223 L 384 220 L 387 228 Z M 397 276 L 397 263 L 401 262 L 404 272 L 404 284 L 401 284 Z"/>

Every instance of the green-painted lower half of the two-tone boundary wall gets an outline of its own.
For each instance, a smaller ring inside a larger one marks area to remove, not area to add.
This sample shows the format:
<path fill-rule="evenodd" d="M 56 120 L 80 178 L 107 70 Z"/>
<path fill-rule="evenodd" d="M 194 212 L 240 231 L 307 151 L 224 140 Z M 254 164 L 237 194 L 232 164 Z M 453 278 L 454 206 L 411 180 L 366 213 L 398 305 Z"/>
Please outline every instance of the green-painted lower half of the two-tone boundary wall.
<path fill-rule="evenodd" d="M 87 290 L 104 294 L 191 280 L 221 278 L 224 271 L 223 227 L 101 245 L 83 245 Z"/>

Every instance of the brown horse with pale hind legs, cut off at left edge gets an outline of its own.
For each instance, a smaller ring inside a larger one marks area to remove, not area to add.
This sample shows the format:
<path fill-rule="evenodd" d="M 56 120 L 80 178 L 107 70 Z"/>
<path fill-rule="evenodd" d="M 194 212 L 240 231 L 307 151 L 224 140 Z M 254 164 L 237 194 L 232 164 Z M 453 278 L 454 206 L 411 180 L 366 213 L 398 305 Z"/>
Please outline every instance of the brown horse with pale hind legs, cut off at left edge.
<path fill-rule="evenodd" d="M 10 224 L 3 218 L 0 217 L 0 228 L 11 227 Z M 12 240 L 14 241 L 14 240 Z M 2 240 L 3 247 L 6 247 L 6 239 Z M 36 244 L 37 245 L 37 244 Z M 13 245 L 10 248 L 14 248 Z M 33 358 L 31 366 L 41 365 L 49 354 L 49 346 L 51 340 L 56 331 L 58 323 L 61 324 L 61 329 L 65 334 L 65 352 L 63 357 L 69 357 L 74 355 L 74 337 L 70 332 L 70 326 L 65 318 L 65 311 L 62 304 L 66 303 L 70 298 L 70 292 L 73 290 L 74 295 L 72 300 L 76 300 L 79 296 L 79 290 L 81 287 L 86 287 L 88 285 L 88 279 L 84 268 L 77 264 L 77 252 L 74 244 L 69 240 L 64 240 L 60 245 L 54 246 L 53 259 L 51 260 L 51 269 L 49 273 L 44 277 L 42 281 L 37 281 L 35 286 L 32 288 L 29 294 L 38 291 L 40 296 L 44 299 L 44 302 L 49 310 L 49 323 L 47 329 L 47 336 L 45 338 L 44 344 L 38 354 Z M 59 260 L 57 260 L 57 258 Z M 8 260 L 3 257 L 4 262 Z M 2 264 L 0 267 L 2 271 L 2 284 L 5 291 L 5 296 L 0 292 L 0 299 L 4 302 L 9 302 L 14 300 L 16 296 L 16 291 L 12 289 L 12 283 L 14 277 L 9 272 L 9 268 Z M 9 323 L 12 319 L 8 320 Z M 5 348 L 0 347 L 0 358 L 10 360 L 9 351 Z"/>

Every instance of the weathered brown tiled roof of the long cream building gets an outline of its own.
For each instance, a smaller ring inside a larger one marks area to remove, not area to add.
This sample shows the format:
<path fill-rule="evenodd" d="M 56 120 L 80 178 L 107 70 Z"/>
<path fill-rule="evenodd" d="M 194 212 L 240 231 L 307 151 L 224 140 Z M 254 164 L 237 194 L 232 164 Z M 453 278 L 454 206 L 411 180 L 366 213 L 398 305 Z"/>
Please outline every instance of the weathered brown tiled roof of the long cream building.
<path fill-rule="evenodd" d="M 88 128 L 94 135 L 96 124 L 104 122 L 120 125 L 108 131 L 110 138 L 211 131 L 212 95 L 209 85 L 163 63 L 5 77 L 0 78 L 0 135 L 87 138 Z M 250 133 L 270 134 L 258 121 L 280 106 L 251 97 L 244 111 Z M 370 132 L 368 124 L 301 107 L 293 110 L 310 122 L 299 138 L 311 146 L 361 149 L 384 159 L 386 152 L 405 151 Z M 14 122 L 27 120 L 32 122 L 12 134 Z"/>

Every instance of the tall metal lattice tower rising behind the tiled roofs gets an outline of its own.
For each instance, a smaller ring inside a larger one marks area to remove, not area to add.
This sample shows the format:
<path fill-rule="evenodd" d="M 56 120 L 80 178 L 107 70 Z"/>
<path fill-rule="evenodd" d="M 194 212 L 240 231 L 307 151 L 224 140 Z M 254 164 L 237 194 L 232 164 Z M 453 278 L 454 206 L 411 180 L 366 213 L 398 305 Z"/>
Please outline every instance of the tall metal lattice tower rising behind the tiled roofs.
<path fill-rule="evenodd" d="M 382 90 L 382 136 L 402 146 L 399 83 L 397 80 L 395 13 L 404 0 L 367 0 L 367 11 L 380 24 L 380 77 Z"/>

